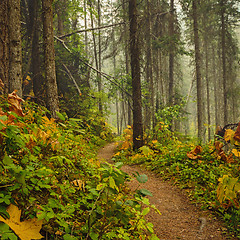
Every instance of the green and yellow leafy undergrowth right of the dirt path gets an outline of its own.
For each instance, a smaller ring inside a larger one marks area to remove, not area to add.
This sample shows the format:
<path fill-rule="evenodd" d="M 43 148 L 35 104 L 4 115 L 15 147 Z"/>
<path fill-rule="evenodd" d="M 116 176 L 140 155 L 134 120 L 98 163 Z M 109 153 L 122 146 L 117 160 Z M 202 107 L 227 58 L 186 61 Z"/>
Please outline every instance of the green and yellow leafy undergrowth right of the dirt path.
<path fill-rule="evenodd" d="M 133 152 L 129 126 L 114 159 L 142 164 L 171 180 L 202 209 L 224 219 L 228 229 L 240 239 L 240 126 L 202 146 L 180 141 L 163 122 L 157 124 L 151 136 L 154 137 L 145 136 L 145 145 Z"/>

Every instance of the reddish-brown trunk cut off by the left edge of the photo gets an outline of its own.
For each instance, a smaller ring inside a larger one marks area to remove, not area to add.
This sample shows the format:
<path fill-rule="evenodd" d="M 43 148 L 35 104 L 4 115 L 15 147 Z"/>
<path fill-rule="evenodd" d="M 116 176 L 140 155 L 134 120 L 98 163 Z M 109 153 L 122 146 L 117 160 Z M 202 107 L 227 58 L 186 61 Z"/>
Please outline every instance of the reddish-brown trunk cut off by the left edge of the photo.
<path fill-rule="evenodd" d="M 8 51 L 8 0 L 0 1 L 0 79 L 4 83 L 4 92 L 9 87 L 9 51 Z"/>

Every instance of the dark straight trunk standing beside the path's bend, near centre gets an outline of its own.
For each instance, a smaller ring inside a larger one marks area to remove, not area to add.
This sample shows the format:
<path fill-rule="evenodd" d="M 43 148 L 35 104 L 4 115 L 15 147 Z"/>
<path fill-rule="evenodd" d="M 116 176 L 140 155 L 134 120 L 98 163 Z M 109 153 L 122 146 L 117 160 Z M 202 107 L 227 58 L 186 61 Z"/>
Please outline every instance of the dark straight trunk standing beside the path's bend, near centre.
<path fill-rule="evenodd" d="M 138 149 L 143 146 L 143 124 L 136 0 L 129 0 L 129 21 L 133 97 L 133 148 Z"/>

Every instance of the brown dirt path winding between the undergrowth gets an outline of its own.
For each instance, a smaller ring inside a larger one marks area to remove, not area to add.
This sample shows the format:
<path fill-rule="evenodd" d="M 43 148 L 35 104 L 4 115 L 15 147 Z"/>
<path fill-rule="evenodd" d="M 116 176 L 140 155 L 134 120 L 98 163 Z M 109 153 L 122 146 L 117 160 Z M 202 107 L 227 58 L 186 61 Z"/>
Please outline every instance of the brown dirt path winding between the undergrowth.
<path fill-rule="evenodd" d="M 98 158 L 113 163 L 111 158 L 116 143 L 106 145 L 100 149 Z M 236 238 L 223 234 L 226 228 L 223 223 L 216 220 L 209 211 L 202 211 L 188 199 L 184 190 L 173 186 L 170 182 L 163 181 L 155 173 L 142 169 L 139 166 L 125 165 L 121 168 L 124 172 L 132 175 L 136 171 L 139 174 L 146 174 L 148 181 L 141 184 L 140 188 L 149 190 L 152 197 L 150 203 L 154 204 L 161 215 L 150 211 L 147 219 L 154 224 L 154 230 L 160 240 L 225 240 Z M 132 190 L 139 187 L 137 180 L 129 183 Z"/>

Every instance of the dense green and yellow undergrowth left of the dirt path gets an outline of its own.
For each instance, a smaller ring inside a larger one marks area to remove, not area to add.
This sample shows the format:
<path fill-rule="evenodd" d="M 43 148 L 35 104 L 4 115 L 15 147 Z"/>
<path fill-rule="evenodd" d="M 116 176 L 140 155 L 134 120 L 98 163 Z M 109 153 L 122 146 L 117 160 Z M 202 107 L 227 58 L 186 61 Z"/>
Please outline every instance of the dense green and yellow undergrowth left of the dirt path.
<path fill-rule="evenodd" d="M 144 219 L 148 193 L 130 194 L 122 164 L 96 159 L 111 140 L 107 124 L 60 113 L 55 121 L 21 101 L 0 99 L 1 239 L 158 239 Z"/>

